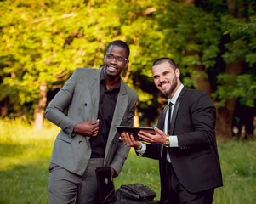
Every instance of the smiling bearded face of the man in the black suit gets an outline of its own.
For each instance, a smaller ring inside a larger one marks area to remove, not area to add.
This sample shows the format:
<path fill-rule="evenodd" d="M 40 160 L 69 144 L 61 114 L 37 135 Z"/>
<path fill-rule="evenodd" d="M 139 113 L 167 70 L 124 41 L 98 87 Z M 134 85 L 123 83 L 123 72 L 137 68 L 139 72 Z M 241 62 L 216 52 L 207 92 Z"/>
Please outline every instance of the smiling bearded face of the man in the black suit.
<path fill-rule="evenodd" d="M 179 69 L 176 68 L 174 71 L 168 61 L 165 61 L 162 64 L 152 66 L 152 74 L 156 88 L 171 99 L 181 84 Z"/>

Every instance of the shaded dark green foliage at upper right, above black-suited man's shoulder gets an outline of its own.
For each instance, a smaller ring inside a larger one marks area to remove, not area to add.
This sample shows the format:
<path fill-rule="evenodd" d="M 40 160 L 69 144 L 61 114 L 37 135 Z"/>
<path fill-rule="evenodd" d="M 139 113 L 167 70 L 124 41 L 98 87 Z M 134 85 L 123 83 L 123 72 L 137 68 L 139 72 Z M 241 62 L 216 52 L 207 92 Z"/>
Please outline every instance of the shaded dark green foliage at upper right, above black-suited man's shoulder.
<path fill-rule="evenodd" d="M 225 100 L 231 98 L 240 99 L 243 105 L 255 105 L 255 9 L 250 1 L 242 5 L 238 9 L 248 9 L 252 16 L 232 16 L 227 7 L 222 10 L 227 6 L 224 1 L 202 1 L 196 7 L 164 2 L 156 14 L 158 29 L 164 35 L 160 43 L 167 43 L 166 50 L 174 54 L 182 82 L 196 88 L 197 76 L 208 78 L 218 106 L 225 106 Z M 225 72 L 226 64 L 241 60 L 250 67 L 242 69 L 241 76 L 235 76 L 235 70 Z"/>

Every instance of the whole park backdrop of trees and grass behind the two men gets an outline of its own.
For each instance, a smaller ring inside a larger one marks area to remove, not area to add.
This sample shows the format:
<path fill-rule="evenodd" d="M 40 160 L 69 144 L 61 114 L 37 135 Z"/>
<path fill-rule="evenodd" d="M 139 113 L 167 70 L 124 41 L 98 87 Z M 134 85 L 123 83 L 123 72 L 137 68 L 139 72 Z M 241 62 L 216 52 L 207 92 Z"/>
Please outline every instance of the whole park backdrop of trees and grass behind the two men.
<path fill-rule="evenodd" d="M 181 82 L 217 110 L 224 187 L 214 203 L 256 202 L 256 2 L 253 0 L 0 1 L 0 203 L 48 203 L 48 161 L 60 129 L 48 102 L 77 67 L 99 68 L 107 44 L 128 43 L 122 79 L 139 94 L 135 126 L 167 103 L 151 64 L 174 59 Z M 139 165 L 138 165 L 139 164 Z M 160 194 L 157 161 L 131 150 L 118 178 Z"/>

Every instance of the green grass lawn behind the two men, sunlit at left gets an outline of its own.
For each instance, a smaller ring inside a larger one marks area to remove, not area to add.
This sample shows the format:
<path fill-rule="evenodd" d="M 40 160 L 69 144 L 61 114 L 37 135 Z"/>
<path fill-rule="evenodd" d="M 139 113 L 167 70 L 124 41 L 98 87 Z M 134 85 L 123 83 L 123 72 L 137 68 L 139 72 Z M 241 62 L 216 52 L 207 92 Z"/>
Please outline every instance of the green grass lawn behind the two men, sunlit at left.
<path fill-rule="evenodd" d="M 37 130 L 21 120 L 0 120 L 0 203 L 48 203 L 48 165 L 58 127 L 48 122 Z M 256 141 L 220 142 L 224 186 L 216 189 L 214 204 L 256 203 Z M 160 196 L 158 161 L 131 150 L 121 184 L 141 183 Z"/>

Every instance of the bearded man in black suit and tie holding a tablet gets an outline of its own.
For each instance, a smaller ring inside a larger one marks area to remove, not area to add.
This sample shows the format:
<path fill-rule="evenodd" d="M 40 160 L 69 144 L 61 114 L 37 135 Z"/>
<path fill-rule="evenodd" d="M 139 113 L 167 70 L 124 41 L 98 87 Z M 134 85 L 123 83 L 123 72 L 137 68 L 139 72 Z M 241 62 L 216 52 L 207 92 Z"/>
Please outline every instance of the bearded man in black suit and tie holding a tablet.
<path fill-rule="evenodd" d="M 222 186 L 213 101 L 180 82 L 172 59 L 157 59 L 152 74 L 156 87 L 168 96 L 156 135 L 139 132 L 139 139 L 150 144 L 130 133 L 120 139 L 139 156 L 159 160 L 162 203 L 212 203 L 214 189 Z"/>

